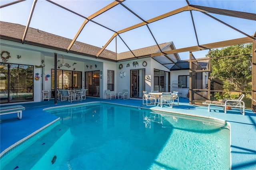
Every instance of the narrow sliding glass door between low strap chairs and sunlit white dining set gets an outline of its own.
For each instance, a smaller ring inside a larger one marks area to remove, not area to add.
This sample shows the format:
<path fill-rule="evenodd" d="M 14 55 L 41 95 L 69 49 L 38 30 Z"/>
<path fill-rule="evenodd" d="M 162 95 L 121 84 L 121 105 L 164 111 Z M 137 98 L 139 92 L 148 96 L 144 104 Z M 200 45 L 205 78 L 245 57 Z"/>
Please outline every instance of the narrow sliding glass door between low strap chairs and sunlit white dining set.
<path fill-rule="evenodd" d="M 132 98 L 142 98 L 145 90 L 145 69 L 131 70 L 130 91 Z"/>

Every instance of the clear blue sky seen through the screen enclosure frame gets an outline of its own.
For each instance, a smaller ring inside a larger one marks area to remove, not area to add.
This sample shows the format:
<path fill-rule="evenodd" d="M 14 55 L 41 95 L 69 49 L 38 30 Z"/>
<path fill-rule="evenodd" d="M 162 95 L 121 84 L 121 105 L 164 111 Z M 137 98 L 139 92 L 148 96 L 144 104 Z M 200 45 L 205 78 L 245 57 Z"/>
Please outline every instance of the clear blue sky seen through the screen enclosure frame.
<path fill-rule="evenodd" d="M 2 6 L 10 2 L 13 2 L 13 0 L 1 0 L 0 5 Z M 82 16 L 89 17 L 113 1 L 54 0 L 53 2 L 69 8 Z M 32 3 L 32 0 L 26 0 L 1 8 L 0 20 L 26 25 Z M 199 6 L 256 13 L 256 0 L 189 0 L 189 3 Z M 123 4 L 145 21 L 187 6 L 186 0 L 126 0 Z M 124 6 L 115 6 L 107 12 L 93 18 L 92 20 L 94 22 L 89 21 L 85 25 L 77 41 L 102 47 L 114 35 L 114 31 L 120 31 L 142 22 L 140 18 L 132 14 Z M 256 21 L 220 16 L 217 14 L 210 15 L 248 35 L 254 35 L 256 31 Z M 111 51 L 116 51 L 117 49 L 117 53 L 121 53 L 129 51 L 128 47 L 134 50 L 156 45 L 156 42 L 161 44 L 171 41 L 173 41 L 176 49 L 195 46 L 197 42 L 192 17 L 200 45 L 245 37 L 245 35 L 206 16 L 202 12 L 192 11 L 191 15 L 189 11 L 186 11 L 149 23 L 148 27 L 144 25 L 121 33 L 119 34 L 121 38 L 117 37 L 113 39 L 106 49 Z M 74 39 L 84 20 L 84 18 L 72 14 L 50 2 L 38 0 L 30 22 L 30 27 Z M 100 25 L 104 25 L 109 29 Z M 128 47 L 126 47 L 126 45 L 128 45 Z M 209 50 L 204 50 L 193 54 L 196 58 L 202 58 L 205 57 L 208 51 Z M 181 59 L 189 59 L 189 53 L 179 53 L 179 55 Z"/>

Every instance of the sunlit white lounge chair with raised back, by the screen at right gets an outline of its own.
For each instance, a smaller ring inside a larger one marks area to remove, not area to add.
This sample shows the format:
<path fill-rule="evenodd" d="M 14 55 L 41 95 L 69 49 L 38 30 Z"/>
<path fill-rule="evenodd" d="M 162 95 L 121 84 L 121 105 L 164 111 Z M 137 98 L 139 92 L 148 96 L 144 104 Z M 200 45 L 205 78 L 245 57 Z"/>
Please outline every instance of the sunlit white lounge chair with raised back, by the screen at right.
<path fill-rule="evenodd" d="M 238 99 L 222 99 L 220 101 L 210 101 L 206 100 L 203 102 L 204 105 L 208 105 L 208 111 L 210 111 L 210 106 L 221 106 L 223 107 L 224 113 L 227 113 L 227 107 L 240 108 L 240 113 L 244 115 L 245 104 L 242 101 L 244 94 L 242 94 Z M 241 111 L 243 109 L 243 111 Z"/>

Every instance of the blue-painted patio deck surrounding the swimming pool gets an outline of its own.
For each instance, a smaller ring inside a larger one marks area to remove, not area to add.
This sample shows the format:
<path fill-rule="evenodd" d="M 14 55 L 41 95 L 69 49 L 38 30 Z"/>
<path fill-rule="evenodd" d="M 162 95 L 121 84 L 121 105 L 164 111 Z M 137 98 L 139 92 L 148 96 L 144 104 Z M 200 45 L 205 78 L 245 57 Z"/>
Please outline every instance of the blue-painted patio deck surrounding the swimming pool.
<path fill-rule="evenodd" d="M 99 98 L 86 97 L 82 102 L 72 102 L 72 104 L 87 103 L 87 102 L 108 102 L 116 104 L 124 104 L 128 106 L 138 106 L 151 108 L 156 110 L 172 111 L 174 113 L 186 113 L 192 115 L 200 115 L 204 117 L 214 117 L 225 120 L 231 125 L 231 156 L 232 156 L 232 170 L 256 169 L 256 114 L 252 110 L 246 109 L 245 115 L 239 112 L 239 109 L 228 110 L 225 114 L 222 107 L 211 107 L 208 112 L 208 106 L 195 106 L 188 104 L 188 99 L 180 98 L 179 106 L 173 108 L 161 108 L 158 106 L 144 106 L 142 100 L 104 100 Z M 18 120 L 17 115 L 8 114 L 0 117 L 0 152 L 3 152 L 11 145 L 27 137 L 34 131 L 44 127 L 48 123 L 56 120 L 58 117 L 42 111 L 44 108 L 54 106 L 69 105 L 68 101 L 54 100 L 22 103 L 26 107 L 23 111 L 22 119 Z M 13 104 L 17 105 L 17 104 Z M 4 105 L 1 105 L 3 107 Z M 12 106 L 12 105 L 8 105 Z"/>

